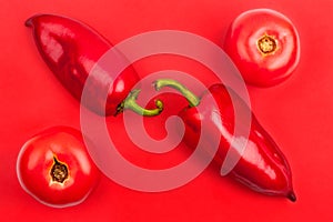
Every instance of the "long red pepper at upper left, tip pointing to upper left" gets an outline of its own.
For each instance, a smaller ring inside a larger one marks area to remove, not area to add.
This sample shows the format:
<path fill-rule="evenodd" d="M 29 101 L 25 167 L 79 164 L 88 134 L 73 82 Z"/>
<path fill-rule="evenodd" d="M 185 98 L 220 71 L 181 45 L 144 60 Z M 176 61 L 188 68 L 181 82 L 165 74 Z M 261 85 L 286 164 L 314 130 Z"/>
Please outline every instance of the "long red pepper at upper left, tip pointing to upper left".
<path fill-rule="evenodd" d="M 61 16 L 37 14 L 28 19 L 26 26 L 32 28 L 36 44 L 44 62 L 80 101 L 90 71 L 112 44 L 87 24 Z M 118 57 L 124 59 L 121 53 Z M 153 110 L 137 104 L 135 99 L 140 90 L 131 90 L 139 77 L 131 65 L 118 77 L 115 74 L 99 72 L 89 85 L 90 98 L 84 100 L 85 107 L 107 115 L 115 115 L 123 109 L 131 109 L 142 115 L 155 115 L 161 112 L 161 101 L 157 101 L 157 109 Z M 107 102 L 99 94 L 102 89 L 108 89 Z"/>

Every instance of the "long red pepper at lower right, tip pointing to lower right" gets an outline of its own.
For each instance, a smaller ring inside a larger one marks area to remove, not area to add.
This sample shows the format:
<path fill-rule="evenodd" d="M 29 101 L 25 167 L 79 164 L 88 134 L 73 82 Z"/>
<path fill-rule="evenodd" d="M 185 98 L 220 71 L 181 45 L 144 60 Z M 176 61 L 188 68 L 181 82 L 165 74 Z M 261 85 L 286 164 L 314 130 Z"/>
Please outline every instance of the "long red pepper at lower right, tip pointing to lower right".
<path fill-rule="evenodd" d="M 194 149 L 201 137 L 201 130 L 203 130 L 205 132 L 205 151 L 211 152 L 212 140 L 216 140 L 215 135 L 219 135 L 220 143 L 214 160 L 220 167 L 229 149 L 234 149 L 233 153 L 241 155 L 239 162 L 228 174 L 229 176 L 260 193 L 283 195 L 291 201 L 296 200 L 292 188 L 291 169 L 285 157 L 252 112 L 250 134 L 244 152 L 242 154 L 238 152 L 238 148 L 232 143 L 234 107 L 229 91 L 223 84 L 213 84 L 201 98 L 174 80 L 161 79 L 157 80 L 154 84 L 157 90 L 164 87 L 174 88 L 188 99 L 190 105 L 179 113 L 185 124 L 183 140 L 186 145 Z M 249 111 L 249 107 L 240 97 L 234 94 L 233 98 L 236 98 L 236 102 L 244 111 Z M 212 99 L 218 107 L 211 102 Z M 216 114 L 220 121 L 215 118 Z"/>

